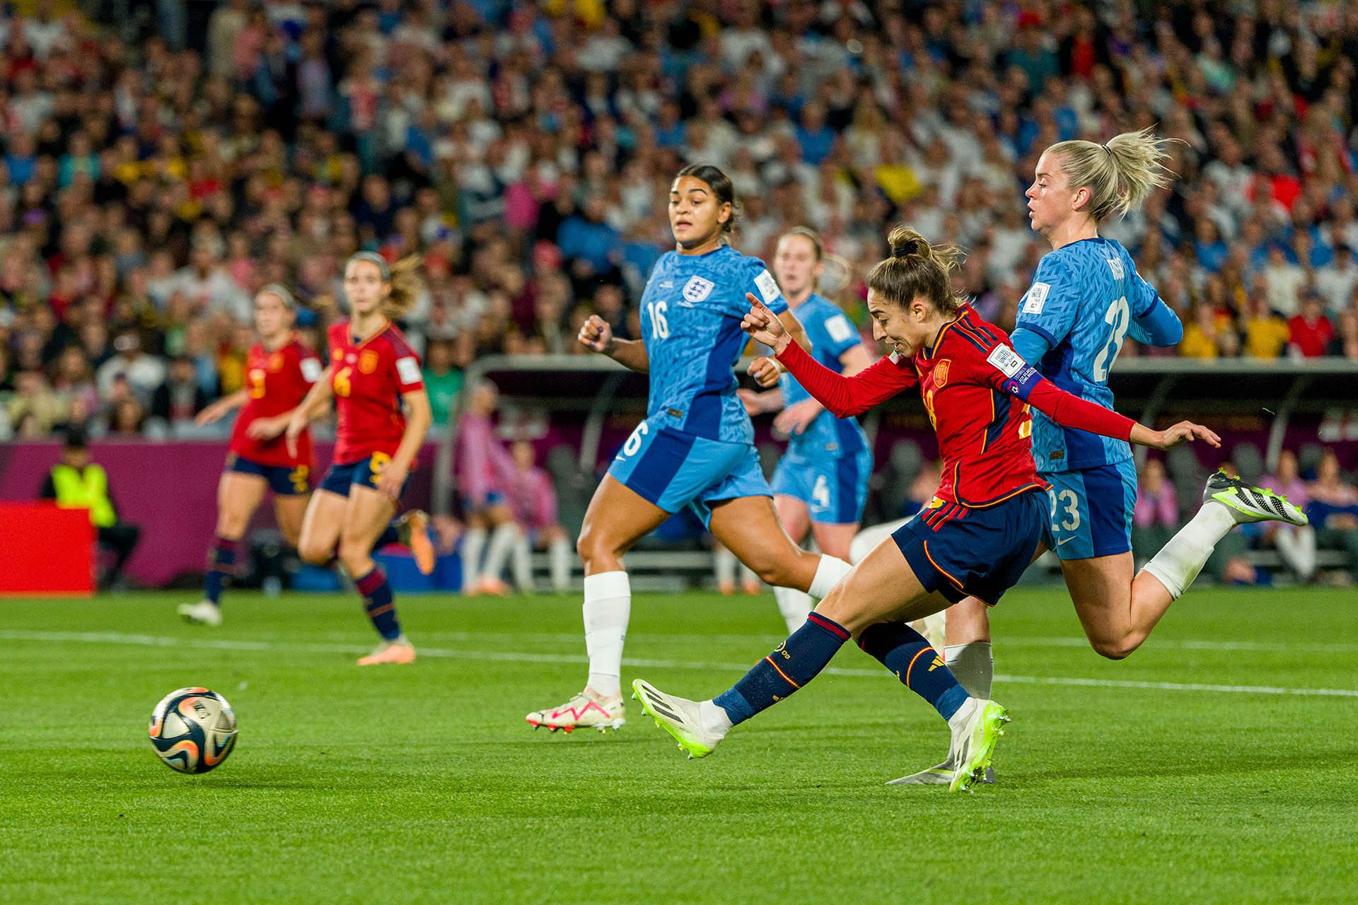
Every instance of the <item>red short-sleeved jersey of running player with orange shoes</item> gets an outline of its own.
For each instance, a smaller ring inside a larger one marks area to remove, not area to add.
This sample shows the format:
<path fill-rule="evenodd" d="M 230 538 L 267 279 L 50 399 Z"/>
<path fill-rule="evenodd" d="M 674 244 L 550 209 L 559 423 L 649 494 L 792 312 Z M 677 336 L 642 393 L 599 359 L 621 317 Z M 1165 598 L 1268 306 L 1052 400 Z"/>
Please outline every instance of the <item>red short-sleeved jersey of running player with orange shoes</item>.
<path fill-rule="evenodd" d="M 395 324 L 356 342 L 349 322 L 330 326 L 330 385 L 335 393 L 335 463 L 373 453 L 391 456 L 401 445 L 406 417 L 401 395 L 424 389 L 420 357 Z"/>

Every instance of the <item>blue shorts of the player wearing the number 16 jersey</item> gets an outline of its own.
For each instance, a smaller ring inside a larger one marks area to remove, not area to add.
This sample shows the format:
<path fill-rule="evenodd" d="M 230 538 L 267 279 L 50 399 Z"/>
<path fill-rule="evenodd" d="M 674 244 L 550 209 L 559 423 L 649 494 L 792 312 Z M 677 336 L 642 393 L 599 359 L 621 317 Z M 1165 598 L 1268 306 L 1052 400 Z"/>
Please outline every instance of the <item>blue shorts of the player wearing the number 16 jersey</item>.
<path fill-rule="evenodd" d="M 608 474 L 668 513 L 689 506 L 703 528 L 712 503 L 773 497 L 752 444 L 728 444 L 644 421 L 627 437 Z"/>

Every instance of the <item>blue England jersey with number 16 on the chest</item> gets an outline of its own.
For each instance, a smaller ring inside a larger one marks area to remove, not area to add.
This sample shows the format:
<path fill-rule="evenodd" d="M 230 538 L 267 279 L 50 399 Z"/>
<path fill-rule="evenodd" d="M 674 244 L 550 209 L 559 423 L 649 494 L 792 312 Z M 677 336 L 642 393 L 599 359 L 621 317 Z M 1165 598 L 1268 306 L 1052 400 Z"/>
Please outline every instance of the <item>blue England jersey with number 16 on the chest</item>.
<path fill-rule="evenodd" d="M 773 274 L 729 246 L 705 255 L 667 251 L 641 294 L 641 338 L 650 358 L 646 421 L 695 437 L 754 442 L 736 396 L 736 361 L 746 345 L 746 293 L 774 313 L 788 309 Z"/>

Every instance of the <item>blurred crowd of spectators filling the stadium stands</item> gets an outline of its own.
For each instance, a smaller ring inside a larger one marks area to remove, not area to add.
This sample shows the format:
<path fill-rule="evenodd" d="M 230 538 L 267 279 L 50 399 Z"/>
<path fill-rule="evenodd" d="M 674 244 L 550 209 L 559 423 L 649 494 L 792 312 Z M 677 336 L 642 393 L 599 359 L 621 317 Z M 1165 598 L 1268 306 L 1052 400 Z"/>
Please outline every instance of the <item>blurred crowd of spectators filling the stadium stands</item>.
<path fill-rule="evenodd" d="M 1251 8 L 1245 14 L 1241 9 Z M 805 224 L 860 285 L 884 228 L 970 250 L 1012 323 L 1038 152 L 1158 123 L 1180 179 L 1107 232 L 1164 354 L 1358 360 L 1358 8 L 1127 0 L 102 0 L 0 22 L 0 434 L 179 430 L 242 384 L 251 293 L 418 251 L 436 418 L 488 353 L 636 334 L 668 179 L 724 167 L 739 244 Z M 338 303 L 342 307 L 342 301 Z M 1123 353 L 1128 354 L 1128 353 Z"/>

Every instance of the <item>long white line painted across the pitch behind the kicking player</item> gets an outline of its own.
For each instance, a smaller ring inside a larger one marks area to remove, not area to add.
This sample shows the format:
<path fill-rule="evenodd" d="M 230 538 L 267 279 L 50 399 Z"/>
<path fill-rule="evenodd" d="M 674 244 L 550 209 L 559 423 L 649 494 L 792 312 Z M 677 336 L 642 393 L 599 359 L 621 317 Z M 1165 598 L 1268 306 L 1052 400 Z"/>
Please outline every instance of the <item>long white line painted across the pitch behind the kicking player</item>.
<path fill-rule="evenodd" d="M 0 630 L 0 640 L 29 640 L 79 644 L 129 644 L 139 647 L 178 647 L 191 650 L 249 650 L 280 654 L 367 654 L 371 647 L 363 644 L 316 644 L 311 642 L 232 640 L 225 638 L 167 638 L 159 635 L 128 635 L 124 632 L 60 632 Z M 445 659 L 482 659 L 517 663 L 585 663 L 579 654 L 543 654 L 521 651 L 449 650 L 445 647 L 420 647 L 420 655 Z M 714 663 L 674 659 L 625 658 L 625 666 L 646 669 L 693 669 L 702 672 L 743 672 L 746 663 Z M 824 670 L 831 676 L 858 676 L 866 678 L 887 678 L 881 669 L 843 669 L 830 666 Z M 1306 697 L 1358 697 L 1353 688 L 1279 688 L 1275 685 L 1210 685 L 1203 682 L 1148 682 L 1122 678 L 1081 678 L 1063 676 L 995 676 L 995 681 L 1021 685 L 1076 685 L 1082 688 L 1135 688 L 1148 691 L 1213 692 L 1218 695 L 1298 695 Z"/>

